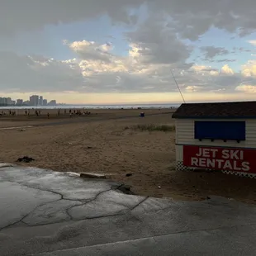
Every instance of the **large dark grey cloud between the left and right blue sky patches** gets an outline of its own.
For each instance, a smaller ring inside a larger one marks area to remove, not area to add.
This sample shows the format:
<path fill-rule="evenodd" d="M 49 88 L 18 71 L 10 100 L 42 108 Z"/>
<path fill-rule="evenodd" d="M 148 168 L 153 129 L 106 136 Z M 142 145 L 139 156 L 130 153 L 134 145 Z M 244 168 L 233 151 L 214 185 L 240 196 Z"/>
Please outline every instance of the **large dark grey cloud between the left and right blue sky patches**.
<path fill-rule="evenodd" d="M 140 63 L 177 64 L 190 56 L 192 47 L 164 25 L 164 19 L 152 15 L 136 31 L 126 33 L 127 40 L 134 46 L 135 59 Z"/>

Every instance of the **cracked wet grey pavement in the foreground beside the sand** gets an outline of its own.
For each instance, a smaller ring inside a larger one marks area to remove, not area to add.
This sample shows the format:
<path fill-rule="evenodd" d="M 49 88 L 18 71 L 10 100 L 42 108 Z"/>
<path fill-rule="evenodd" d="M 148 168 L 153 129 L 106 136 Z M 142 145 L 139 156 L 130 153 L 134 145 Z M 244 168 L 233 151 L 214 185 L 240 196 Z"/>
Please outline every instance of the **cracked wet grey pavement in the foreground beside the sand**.
<path fill-rule="evenodd" d="M 0 255 L 255 255 L 256 207 L 0 164 Z"/>

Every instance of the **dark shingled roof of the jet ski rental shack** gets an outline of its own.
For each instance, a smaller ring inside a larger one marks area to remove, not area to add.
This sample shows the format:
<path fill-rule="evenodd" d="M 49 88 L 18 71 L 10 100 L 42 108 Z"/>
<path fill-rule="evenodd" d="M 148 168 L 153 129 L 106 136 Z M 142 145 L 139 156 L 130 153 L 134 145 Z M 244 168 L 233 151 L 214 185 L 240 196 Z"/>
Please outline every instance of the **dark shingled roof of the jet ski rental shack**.
<path fill-rule="evenodd" d="M 256 102 L 184 103 L 173 118 L 256 118 Z"/>

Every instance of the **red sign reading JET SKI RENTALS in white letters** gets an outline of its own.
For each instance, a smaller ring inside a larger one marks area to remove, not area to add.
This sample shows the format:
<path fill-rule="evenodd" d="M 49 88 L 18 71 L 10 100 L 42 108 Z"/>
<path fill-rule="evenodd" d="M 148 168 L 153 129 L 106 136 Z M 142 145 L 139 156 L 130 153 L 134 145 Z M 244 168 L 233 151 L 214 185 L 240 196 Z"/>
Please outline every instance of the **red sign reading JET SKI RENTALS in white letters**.
<path fill-rule="evenodd" d="M 256 149 L 184 145 L 183 165 L 193 168 L 256 173 Z"/>

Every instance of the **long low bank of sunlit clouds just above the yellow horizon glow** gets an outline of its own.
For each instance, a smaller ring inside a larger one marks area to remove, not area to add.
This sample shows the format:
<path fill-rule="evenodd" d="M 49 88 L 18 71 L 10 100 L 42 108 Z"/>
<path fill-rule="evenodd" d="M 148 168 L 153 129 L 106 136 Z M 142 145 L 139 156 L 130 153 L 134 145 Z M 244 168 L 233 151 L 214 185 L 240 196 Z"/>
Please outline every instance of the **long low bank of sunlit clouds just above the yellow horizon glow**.
<path fill-rule="evenodd" d="M 245 92 L 249 88 L 254 92 L 252 88 L 256 86 L 254 60 L 244 64 L 240 72 L 235 72 L 228 64 L 220 70 L 204 65 L 165 64 L 160 61 L 145 64 L 144 57 L 140 56 L 143 54 L 135 45 L 130 45 L 129 55 L 111 54 L 107 61 L 103 61 L 102 52 L 98 55 L 95 48 L 104 49 L 103 52 L 109 54 L 111 48 L 104 48 L 106 45 L 93 43 L 91 47 L 91 43 L 84 40 L 65 44 L 74 54 L 79 52 L 76 58 L 56 60 L 1 52 L 1 91 L 178 92 L 171 69 L 183 92 L 233 93 Z M 92 53 L 88 53 L 87 48 Z"/>

